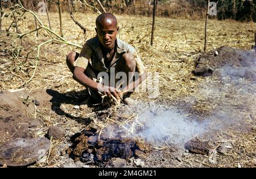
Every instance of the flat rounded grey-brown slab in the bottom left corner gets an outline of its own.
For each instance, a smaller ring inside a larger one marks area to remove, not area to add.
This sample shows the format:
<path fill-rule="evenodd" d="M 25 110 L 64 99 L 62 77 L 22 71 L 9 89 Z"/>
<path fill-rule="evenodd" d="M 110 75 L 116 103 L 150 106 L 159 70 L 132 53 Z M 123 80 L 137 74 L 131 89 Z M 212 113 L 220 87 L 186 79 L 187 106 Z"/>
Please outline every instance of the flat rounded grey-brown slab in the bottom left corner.
<path fill-rule="evenodd" d="M 42 159 L 51 142 L 47 138 L 17 138 L 0 146 L 0 165 L 26 166 Z"/>

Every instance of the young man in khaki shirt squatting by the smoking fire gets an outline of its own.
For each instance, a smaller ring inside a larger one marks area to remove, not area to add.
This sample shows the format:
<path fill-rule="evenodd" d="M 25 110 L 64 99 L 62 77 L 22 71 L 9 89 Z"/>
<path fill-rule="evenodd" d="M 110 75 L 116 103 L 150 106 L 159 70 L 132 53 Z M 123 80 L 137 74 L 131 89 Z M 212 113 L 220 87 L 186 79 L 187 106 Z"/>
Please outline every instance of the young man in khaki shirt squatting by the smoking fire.
<path fill-rule="evenodd" d="M 99 15 L 95 30 L 97 36 L 85 42 L 80 54 L 68 54 L 69 70 L 93 99 L 101 101 L 102 95 L 108 95 L 119 100 L 124 95 L 123 101 L 131 105 L 134 101 L 129 95 L 147 76 L 141 58 L 133 46 L 117 39 L 119 27 L 113 14 Z M 122 83 L 118 80 L 121 76 Z"/>

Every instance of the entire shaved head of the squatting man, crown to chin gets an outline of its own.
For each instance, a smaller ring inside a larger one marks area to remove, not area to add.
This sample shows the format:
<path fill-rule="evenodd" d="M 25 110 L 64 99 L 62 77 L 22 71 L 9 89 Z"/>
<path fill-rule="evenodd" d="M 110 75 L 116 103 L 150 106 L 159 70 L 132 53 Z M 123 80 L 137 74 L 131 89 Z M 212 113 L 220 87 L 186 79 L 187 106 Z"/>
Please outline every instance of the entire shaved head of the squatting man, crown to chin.
<path fill-rule="evenodd" d="M 118 27 L 117 18 L 113 14 L 103 13 L 96 19 L 96 33 L 101 44 L 108 50 L 112 50 L 115 46 Z"/>

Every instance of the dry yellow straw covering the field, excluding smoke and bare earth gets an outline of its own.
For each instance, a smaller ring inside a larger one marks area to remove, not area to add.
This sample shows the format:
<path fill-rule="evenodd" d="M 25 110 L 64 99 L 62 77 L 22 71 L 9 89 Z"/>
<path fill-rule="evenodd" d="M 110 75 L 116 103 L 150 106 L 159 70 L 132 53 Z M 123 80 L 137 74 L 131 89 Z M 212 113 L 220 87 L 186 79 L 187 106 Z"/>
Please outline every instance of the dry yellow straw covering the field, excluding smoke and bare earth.
<path fill-rule="evenodd" d="M 53 31 L 59 33 L 58 14 L 51 14 Z M 63 33 L 65 39 L 83 45 L 84 42 L 96 35 L 95 14 L 75 14 L 77 20 L 88 29 L 84 35 L 81 29 L 73 23 L 69 14 L 63 14 Z M 47 16 L 39 16 L 47 25 Z M 225 116 L 232 113 L 231 118 L 240 118 L 238 123 L 223 125 L 218 129 L 205 131 L 204 135 L 192 136 L 208 144 L 216 150 L 225 143 L 228 152 L 216 155 L 217 161 L 210 160 L 207 155 L 191 154 L 184 148 L 170 146 L 167 142 L 154 146 L 151 154 L 144 161 L 145 167 L 255 167 L 256 165 L 256 108 L 255 83 L 241 79 L 241 84 L 251 89 L 242 93 L 242 86 L 233 88 L 233 82 L 222 82 L 216 75 L 208 77 L 194 76 L 195 62 L 204 48 L 204 20 L 179 20 L 169 18 L 156 18 L 154 45 L 150 46 L 150 33 L 152 19 L 146 16 L 117 15 L 120 31 L 119 39 L 129 42 L 137 49 L 146 69 L 150 73 L 159 74 L 159 92 L 155 99 L 148 98 L 148 92 L 135 92 L 131 97 L 140 103 L 153 103 L 164 106 L 176 106 L 178 109 L 188 109 L 189 114 L 195 114 L 200 120 L 210 118 L 213 114 L 226 111 Z M 34 18 L 26 15 L 26 19 L 18 23 L 22 33 L 35 28 Z M 10 19 L 3 19 L 3 28 L 8 28 Z M 208 23 L 208 51 L 229 46 L 243 50 L 250 50 L 254 45 L 255 23 L 240 23 L 231 20 L 209 20 Z M 15 40 L 14 28 L 8 36 L 1 32 L 0 48 L 0 90 L 10 91 L 20 88 L 38 90 L 51 88 L 59 93 L 76 96 L 84 90 L 80 84 L 72 79 L 72 74 L 65 65 L 68 52 L 80 52 L 79 48 L 71 45 L 51 43 L 42 46 L 40 59 L 36 66 L 36 45 L 51 39 L 39 30 L 39 37 L 35 33 L 24 36 L 22 41 Z M 4 51 L 7 50 L 7 51 Z M 28 52 L 31 52 L 28 54 Z M 34 73 L 29 83 L 27 81 Z M 25 85 L 24 85 L 25 84 Z M 223 90 L 224 89 L 224 90 Z M 230 95 L 229 99 L 225 98 Z M 73 162 L 64 154 L 64 148 L 70 146 L 69 138 L 87 127 L 101 126 L 95 118 L 93 109 L 77 110 L 74 103 L 63 103 L 59 108 L 64 114 L 57 113 L 53 102 L 38 109 L 36 116 L 42 118 L 44 125 L 36 132 L 43 137 L 48 127 L 61 125 L 66 134 L 59 140 L 51 140 L 50 152 L 46 160 L 37 162 L 32 167 L 68 167 Z M 239 108 L 242 106 L 242 108 Z M 65 115 L 69 114 L 69 115 Z M 221 115 L 214 116 L 220 118 Z M 86 121 L 84 120 L 86 118 Z M 223 122 L 222 120 L 218 122 Z M 211 120 L 205 126 L 214 125 Z M 160 130 L 160 129 L 159 129 Z M 0 138 L 3 143 L 5 138 Z M 71 165 L 72 166 L 72 165 Z"/>

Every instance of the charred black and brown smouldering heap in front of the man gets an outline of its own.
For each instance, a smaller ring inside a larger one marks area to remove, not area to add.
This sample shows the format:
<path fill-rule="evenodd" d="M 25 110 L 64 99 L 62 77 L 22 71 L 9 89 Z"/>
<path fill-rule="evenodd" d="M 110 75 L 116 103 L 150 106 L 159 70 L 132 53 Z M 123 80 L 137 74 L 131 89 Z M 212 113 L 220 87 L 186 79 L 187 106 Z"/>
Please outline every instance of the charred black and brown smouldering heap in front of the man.
<path fill-rule="evenodd" d="M 144 140 L 108 138 L 106 135 L 94 134 L 95 130 L 82 131 L 75 134 L 71 140 L 73 145 L 67 152 L 75 161 L 85 164 L 97 164 L 104 167 L 112 158 L 130 159 L 145 158 L 149 146 Z"/>

